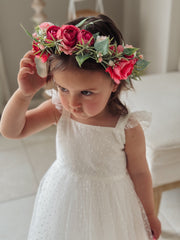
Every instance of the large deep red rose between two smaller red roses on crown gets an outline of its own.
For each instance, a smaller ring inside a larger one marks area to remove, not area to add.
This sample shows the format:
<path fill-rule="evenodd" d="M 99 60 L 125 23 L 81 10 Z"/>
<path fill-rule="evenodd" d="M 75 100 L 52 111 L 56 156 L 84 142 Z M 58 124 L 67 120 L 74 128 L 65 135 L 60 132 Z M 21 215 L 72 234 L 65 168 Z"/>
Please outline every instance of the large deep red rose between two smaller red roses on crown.
<path fill-rule="evenodd" d="M 62 40 L 59 50 L 71 55 L 77 43 L 79 31 L 80 29 L 74 25 L 63 25 L 57 32 L 57 39 Z"/>

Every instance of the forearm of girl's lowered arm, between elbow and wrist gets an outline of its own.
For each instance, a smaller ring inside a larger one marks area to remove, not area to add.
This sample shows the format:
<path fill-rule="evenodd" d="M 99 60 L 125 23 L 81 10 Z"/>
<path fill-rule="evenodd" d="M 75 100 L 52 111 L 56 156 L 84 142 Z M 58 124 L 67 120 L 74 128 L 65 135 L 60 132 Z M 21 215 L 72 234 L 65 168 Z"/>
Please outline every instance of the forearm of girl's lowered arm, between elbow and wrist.
<path fill-rule="evenodd" d="M 147 216 L 154 215 L 154 198 L 150 173 L 140 173 L 131 176 L 135 191 L 143 204 Z"/>

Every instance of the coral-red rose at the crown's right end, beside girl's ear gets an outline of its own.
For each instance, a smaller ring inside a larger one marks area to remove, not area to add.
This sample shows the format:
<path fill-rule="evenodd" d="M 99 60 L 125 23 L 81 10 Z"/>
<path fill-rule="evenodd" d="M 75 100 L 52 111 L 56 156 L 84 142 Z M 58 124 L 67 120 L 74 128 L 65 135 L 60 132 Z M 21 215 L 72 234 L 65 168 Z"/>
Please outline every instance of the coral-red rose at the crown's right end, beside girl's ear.
<path fill-rule="evenodd" d="M 131 75 L 136 62 L 136 59 L 120 60 L 115 66 L 106 68 L 106 72 L 110 74 L 115 83 L 119 84 L 121 80 L 125 80 Z"/>

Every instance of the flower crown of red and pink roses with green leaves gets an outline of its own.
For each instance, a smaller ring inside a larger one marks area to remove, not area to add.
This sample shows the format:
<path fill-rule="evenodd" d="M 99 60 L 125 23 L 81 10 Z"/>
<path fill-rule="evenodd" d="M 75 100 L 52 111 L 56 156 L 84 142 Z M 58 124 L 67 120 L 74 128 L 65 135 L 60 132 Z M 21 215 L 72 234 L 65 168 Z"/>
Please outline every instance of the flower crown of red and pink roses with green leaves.
<path fill-rule="evenodd" d="M 139 49 L 127 44 L 117 45 L 109 36 L 81 30 L 79 27 L 86 20 L 75 26 L 61 27 L 43 22 L 35 27 L 33 34 L 24 30 L 33 39 L 33 52 L 42 62 L 46 62 L 51 54 L 64 53 L 74 55 L 79 67 L 87 59 L 94 59 L 104 67 L 116 84 L 121 80 L 129 82 L 131 79 L 140 79 L 149 62 L 143 59 Z"/>

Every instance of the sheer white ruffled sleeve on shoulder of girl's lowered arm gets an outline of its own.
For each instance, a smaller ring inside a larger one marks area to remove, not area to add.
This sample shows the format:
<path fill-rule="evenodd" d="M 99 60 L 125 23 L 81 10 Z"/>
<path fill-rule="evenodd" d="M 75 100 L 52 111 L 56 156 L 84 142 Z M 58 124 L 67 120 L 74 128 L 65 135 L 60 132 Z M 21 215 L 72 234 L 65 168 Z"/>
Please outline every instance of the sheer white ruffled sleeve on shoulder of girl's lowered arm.
<path fill-rule="evenodd" d="M 134 128 L 140 123 L 143 130 L 146 130 L 150 126 L 151 119 L 152 115 L 150 112 L 146 111 L 132 112 L 128 116 L 125 129 Z"/>

